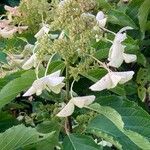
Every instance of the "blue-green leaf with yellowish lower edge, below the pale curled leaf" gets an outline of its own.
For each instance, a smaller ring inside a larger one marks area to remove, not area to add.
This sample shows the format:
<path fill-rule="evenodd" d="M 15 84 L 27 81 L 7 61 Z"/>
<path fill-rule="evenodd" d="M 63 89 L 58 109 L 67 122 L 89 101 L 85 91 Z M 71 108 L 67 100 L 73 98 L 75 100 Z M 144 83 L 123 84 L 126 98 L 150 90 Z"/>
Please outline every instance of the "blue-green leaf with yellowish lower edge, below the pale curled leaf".
<path fill-rule="evenodd" d="M 115 145 L 118 149 L 136 149 L 138 147 L 104 115 L 98 115 L 88 125 L 87 132 Z"/>

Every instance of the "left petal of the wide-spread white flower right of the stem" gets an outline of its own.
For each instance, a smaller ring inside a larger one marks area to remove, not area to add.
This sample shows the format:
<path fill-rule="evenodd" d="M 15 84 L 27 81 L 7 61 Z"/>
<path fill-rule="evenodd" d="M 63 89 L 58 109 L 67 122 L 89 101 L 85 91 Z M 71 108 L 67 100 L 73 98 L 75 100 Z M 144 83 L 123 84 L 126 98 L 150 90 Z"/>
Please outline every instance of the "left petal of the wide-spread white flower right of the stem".
<path fill-rule="evenodd" d="M 110 89 L 111 87 L 112 87 L 112 81 L 108 73 L 104 77 L 102 77 L 99 81 L 97 81 L 95 84 L 90 86 L 90 89 L 92 91 L 102 91 L 104 89 Z"/>

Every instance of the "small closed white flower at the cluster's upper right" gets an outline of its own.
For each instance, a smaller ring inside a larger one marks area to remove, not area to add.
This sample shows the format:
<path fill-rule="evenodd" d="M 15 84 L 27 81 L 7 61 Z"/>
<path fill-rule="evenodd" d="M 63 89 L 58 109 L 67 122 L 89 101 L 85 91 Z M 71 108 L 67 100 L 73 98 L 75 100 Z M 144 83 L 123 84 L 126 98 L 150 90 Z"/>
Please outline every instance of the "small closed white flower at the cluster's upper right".
<path fill-rule="evenodd" d="M 98 25 L 102 28 L 105 27 L 107 18 L 105 17 L 104 13 L 102 11 L 99 11 L 96 15 L 96 20 L 98 22 Z"/>

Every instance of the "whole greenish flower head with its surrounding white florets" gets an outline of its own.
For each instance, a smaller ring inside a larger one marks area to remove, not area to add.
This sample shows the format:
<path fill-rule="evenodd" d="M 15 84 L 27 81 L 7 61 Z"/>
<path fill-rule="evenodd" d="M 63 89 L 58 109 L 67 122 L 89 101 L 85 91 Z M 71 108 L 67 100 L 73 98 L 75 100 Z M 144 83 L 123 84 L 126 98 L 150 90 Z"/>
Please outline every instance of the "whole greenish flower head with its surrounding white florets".
<path fill-rule="evenodd" d="M 50 50 L 47 50 L 47 52 L 50 51 L 51 57 L 53 57 L 54 53 L 57 53 L 65 63 L 68 63 L 70 65 L 70 72 L 75 74 L 69 74 L 69 76 L 74 77 L 74 79 L 76 79 L 81 72 L 84 72 L 85 68 L 88 70 L 95 61 L 100 64 L 100 67 L 103 67 L 108 71 L 104 77 L 89 87 L 92 91 L 111 89 L 118 84 L 128 82 L 134 75 L 133 71 L 117 72 L 112 71 L 111 67 L 119 68 L 123 61 L 126 63 L 136 61 L 136 55 L 126 54 L 125 45 L 123 45 L 123 41 L 127 38 L 125 31 L 131 30 L 132 28 L 124 27 L 118 33 L 109 31 L 106 29 L 107 16 L 102 11 L 97 12 L 96 15 L 92 13 L 96 5 L 96 3 L 93 3 L 94 0 L 85 3 L 83 2 L 85 1 L 63 0 L 58 4 L 54 10 L 54 12 L 56 12 L 56 18 L 54 17 L 55 20 L 52 24 L 49 25 L 43 23 L 42 28 L 35 34 L 37 42 L 32 50 L 33 54 L 24 63 L 22 68 L 25 70 L 32 67 L 38 69 L 39 64 L 44 60 L 44 57 L 42 58 L 43 60 L 39 59 L 39 55 L 42 53 L 39 50 L 42 49 L 41 47 L 39 48 L 39 45 L 41 45 L 42 40 L 48 39 L 50 40 L 50 46 L 47 49 Z M 85 10 L 83 7 L 85 4 L 89 5 L 89 8 L 91 9 Z M 55 30 L 58 30 L 59 32 L 57 32 L 57 34 L 52 34 L 51 31 L 54 32 Z M 109 50 L 108 63 L 103 63 L 96 59 L 94 57 L 96 49 L 91 47 L 93 40 L 97 41 L 97 36 L 101 35 L 103 31 L 115 35 L 113 41 L 109 40 L 111 41 L 112 46 Z M 61 89 L 65 85 L 65 83 L 63 83 L 65 77 L 60 76 L 60 70 L 47 75 L 49 62 L 47 64 L 45 76 L 42 78 L 37 77 L 37 80 L 33 82 L 32 86 L 24 96 L 31 96 L 35 93 L 36 95 L 40 95 L 45 89 L 56 94 L 61 92 Z M 72 92 L 72 89 L 70 91 Z M 71 99 L 57 116 L 70 116 L 74 112 L 75 106 L 79 108 L 87 107 L 94 100 L 94 95 L 73 97 L 71 94 Z"/>

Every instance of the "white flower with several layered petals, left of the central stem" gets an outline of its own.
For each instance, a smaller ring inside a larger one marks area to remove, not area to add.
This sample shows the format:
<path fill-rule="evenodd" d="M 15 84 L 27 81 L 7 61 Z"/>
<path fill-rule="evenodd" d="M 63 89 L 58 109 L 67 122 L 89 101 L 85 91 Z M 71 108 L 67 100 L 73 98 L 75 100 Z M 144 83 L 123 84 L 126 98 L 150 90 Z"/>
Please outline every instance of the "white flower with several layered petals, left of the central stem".
<path fill-rule="evenodd" d="M 60 72 L 61 70 L 58 70 L 50 75 L 35 80 L 23 96 L 31 96 L 35 93 L 36 95 L 40 95 L 44 89 L 53 91 L 56 94 L 60 93 L 62 87 L 65 85 L 63 83 L 64 77 L 60 77 Z"/>

